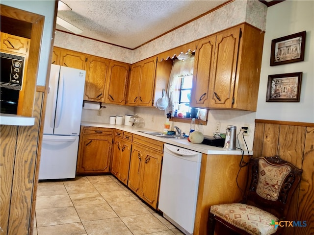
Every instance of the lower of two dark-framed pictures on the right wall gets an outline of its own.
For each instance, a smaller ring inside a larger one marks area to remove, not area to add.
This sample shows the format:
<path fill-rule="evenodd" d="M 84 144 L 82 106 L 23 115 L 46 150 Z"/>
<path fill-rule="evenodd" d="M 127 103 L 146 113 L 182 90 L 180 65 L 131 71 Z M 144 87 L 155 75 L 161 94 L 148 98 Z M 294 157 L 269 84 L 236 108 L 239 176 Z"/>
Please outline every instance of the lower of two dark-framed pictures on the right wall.
<path fill-rule="evenodd" d="M 302 72 L 268 76 L 266 102 L 299 102 Z"/>

